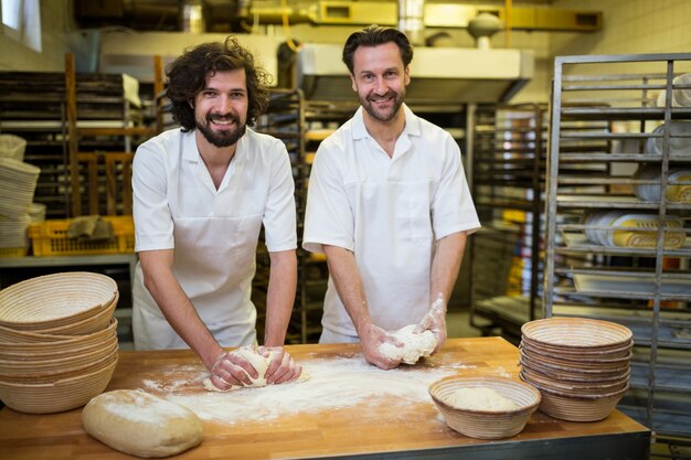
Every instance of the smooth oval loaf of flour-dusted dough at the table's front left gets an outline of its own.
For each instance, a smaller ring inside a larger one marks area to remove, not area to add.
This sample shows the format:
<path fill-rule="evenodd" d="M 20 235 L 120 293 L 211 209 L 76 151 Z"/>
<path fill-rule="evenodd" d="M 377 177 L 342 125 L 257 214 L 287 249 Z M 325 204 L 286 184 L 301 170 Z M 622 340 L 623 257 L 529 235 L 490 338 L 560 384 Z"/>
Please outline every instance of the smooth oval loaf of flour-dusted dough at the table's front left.
<path fill-rule="evenodd" d="M 177 404 L 140 391 L 96 396 L 82 410 L 86 432 L 100 442 L 143 458 L 169 457 L 202 441 L 202 422 Z"/>

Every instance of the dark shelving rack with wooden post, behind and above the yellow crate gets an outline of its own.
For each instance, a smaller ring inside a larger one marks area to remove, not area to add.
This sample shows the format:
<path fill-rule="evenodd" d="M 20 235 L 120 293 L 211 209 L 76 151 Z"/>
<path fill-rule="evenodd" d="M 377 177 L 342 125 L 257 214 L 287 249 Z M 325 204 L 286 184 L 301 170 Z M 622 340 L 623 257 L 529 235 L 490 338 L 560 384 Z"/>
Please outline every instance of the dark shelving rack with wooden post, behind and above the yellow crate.
<path fill-rule="evenodd" d="M 0 132 L 26 139 L 24 161 L 41 168 L 34 201 L 46 217 L 129 214 L 131 152 L 152 131 L 128 101 L 123 75 L 66 67 L 0 72 Z"/>

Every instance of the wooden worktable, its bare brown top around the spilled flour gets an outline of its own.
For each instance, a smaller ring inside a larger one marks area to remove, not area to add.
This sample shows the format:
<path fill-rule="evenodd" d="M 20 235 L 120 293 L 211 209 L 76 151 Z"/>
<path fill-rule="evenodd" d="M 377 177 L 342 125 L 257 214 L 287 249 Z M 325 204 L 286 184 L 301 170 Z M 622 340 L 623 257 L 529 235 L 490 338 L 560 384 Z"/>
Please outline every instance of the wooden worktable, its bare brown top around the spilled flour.
<path fill-rule="evenodd" d="M 286 349 L 306 368 L 312 362 L 310 360 L 327 360 L 327 364 L 347 362 L 343 360 L 362 362 L 360 347 L 354 344 Z M 465 375 L 515 377 L 517 363 L 518 350 L 500 338 L 451 339 L 440 353 L 402 372 L 446 370 Z M 369 367 L 363 368 L 370 372 Z M 147 388 L 152 382 L 166 386 L 173 379 L 184 379 L 185 375 L 191 381 L 196 378 L 195 384 L 179 392 L 202 395 L 204 391 L 199 387 L 199 375 L 203 375 L 203 367 L 192 352 L 121 352 L 107 389 Z M 246 388 L 240 392 L 257 391 Z M 333 398 L 338 400 L 339 395 Z M 582 424 L 556 420 L 536 411 L 518 436 L 487 441 L 461 436 L 448 428 L 430 398 L 412 406 L 397 404 L 396 398 L 386 395 L 376 399 L 352 407 L 293 413 L 270 420 L 228 424 L 204 419 L 202 445 L 179 458 L 642 460 L 648 459 L 650 450 L 650 431 L 619 411 L 602 421 Z M 86 435 L 81 425 L 81 409 L 52 415 L 19 414 L 7 407 L 0 410 L 0 459 L 125 458 L 130 457 Z"/>

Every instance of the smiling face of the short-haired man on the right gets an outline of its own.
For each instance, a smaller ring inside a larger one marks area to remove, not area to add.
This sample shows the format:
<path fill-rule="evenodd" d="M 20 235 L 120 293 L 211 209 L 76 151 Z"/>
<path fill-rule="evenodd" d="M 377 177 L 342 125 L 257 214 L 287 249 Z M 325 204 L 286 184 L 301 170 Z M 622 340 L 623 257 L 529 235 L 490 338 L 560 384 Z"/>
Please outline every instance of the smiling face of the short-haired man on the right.
<path fill-rule="evenodd" d="M 358 47 L 350 78 L 360 104 L 371 118 L 387 122 L 398 116 L 411 76 L 395 43 Z"/>

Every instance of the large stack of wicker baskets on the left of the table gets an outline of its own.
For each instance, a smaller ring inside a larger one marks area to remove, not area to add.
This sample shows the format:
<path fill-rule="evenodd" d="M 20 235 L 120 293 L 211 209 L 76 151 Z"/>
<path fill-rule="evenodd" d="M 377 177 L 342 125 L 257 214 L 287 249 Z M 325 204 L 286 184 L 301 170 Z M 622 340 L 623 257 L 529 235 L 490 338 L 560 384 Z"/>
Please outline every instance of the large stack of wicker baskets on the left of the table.
<path fill-rule="evenodd" d="M 118 360 L 116 282 L 64 272 L 0 291 L 0 399 L 49 414 L 81 407 L 100 394 Z"/>

